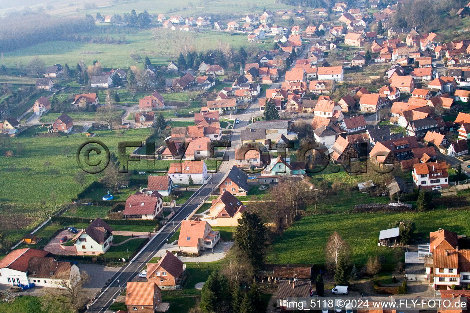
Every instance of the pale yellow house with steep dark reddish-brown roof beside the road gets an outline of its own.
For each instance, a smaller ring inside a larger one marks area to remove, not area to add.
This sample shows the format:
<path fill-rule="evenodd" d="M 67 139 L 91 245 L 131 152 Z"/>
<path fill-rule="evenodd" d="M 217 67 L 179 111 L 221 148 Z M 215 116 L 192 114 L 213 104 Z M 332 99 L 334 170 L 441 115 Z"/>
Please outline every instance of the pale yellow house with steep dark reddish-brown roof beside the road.
<path fill-rule="evenodd" d="M 228 191 L 212 200 L 212 206 L 203 220 L 212 226 L 237 226 L 246 206 Z"/>

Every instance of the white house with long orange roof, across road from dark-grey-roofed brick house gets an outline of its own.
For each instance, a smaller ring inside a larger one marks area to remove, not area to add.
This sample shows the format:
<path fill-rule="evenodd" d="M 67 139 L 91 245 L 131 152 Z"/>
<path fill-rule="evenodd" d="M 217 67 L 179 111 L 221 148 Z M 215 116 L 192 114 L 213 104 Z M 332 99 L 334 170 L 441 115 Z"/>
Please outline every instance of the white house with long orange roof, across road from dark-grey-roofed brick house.
<path fill-rule="evenodd" d="M 193 183 L 203 184 L 209 177 L 207 166 L 203 160 L 188 160 L 180 163 L 172 163 L 168 169 L 168 176 L 174 184 L 188 184 L 189 176 L 191 176 Z"/>

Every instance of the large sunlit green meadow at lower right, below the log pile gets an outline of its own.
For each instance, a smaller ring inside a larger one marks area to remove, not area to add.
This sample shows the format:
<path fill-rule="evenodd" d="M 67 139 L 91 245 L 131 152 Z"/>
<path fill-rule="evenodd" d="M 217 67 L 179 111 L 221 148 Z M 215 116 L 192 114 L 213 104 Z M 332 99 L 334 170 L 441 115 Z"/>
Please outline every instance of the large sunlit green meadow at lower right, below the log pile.
<path fill-rule="evenodd" d="M 348 262 L 357 267 L 365 265 L 369 255 L 384 255 L 384 267 L 393 266 L 393 250 L 377 246 L 380 230 L 388 229 L 396 220 L 415 221 L 415 237 L 429 239 L 429 233 L 439 228 L 462 235 L 470 234 L 469 211 L 435 210 L 428 212 L 319 214 L 303 217 L 276 237 L 267 253 L 268 263 L 325 263 L 328 237 L 337 231 L 349 244 Z"/>

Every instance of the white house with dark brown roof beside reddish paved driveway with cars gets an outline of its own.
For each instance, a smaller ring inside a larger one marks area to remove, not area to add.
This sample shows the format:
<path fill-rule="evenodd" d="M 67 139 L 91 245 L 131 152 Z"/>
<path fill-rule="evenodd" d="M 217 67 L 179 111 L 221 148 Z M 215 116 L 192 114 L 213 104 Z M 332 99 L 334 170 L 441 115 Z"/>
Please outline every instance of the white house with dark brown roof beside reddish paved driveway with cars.
<path fill-rule="evenodd" d="M 91 222 L 73 238 L 77 255 L 101 254 L 108 251 L 113 242 L 113 229 L 100 218 Z"/>

